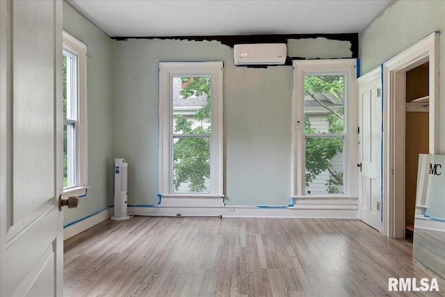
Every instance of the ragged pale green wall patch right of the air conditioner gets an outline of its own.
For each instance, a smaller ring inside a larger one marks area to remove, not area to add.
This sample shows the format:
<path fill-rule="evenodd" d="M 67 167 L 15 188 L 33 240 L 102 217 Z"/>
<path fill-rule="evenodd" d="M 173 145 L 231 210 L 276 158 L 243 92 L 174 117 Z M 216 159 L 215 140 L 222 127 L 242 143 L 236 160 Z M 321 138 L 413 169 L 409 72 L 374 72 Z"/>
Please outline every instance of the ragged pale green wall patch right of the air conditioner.
<path fill-rule="evenodd" d="M 287 56 L 307 59 L 353 58 L 353 49 L 349 40 L 332 40 L 323 37 L 288 39 Z"/>

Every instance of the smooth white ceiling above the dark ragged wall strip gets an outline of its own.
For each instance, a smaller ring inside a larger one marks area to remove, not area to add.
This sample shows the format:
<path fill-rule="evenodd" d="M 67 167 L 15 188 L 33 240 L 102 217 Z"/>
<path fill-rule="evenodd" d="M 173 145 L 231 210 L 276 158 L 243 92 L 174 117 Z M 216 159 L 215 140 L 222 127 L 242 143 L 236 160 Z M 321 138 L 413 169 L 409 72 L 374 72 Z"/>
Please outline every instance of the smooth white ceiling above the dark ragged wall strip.
<path fill-rule="evenodd" d="M 111 37 L 357 33 L 391 0 L 67 0 Z"/>

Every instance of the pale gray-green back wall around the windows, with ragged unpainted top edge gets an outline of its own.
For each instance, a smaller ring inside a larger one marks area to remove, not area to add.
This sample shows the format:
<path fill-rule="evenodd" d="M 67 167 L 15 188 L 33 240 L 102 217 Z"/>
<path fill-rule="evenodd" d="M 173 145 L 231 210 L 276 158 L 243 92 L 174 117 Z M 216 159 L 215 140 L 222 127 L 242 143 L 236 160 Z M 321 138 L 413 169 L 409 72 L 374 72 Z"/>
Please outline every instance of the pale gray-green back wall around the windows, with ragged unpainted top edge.
<path fill-rule="evenodd" d="M 323 38 L 288 42 L 288 52 L 350 58 L 350 45 Z M 129 204 L 159 193 L 161 61 L 224 61 L 225 195 L 232 205 L 291 202 L 291 66 L 235 67 L 217 41 L 113 41 L 113 152 L 129 162 Z"/>

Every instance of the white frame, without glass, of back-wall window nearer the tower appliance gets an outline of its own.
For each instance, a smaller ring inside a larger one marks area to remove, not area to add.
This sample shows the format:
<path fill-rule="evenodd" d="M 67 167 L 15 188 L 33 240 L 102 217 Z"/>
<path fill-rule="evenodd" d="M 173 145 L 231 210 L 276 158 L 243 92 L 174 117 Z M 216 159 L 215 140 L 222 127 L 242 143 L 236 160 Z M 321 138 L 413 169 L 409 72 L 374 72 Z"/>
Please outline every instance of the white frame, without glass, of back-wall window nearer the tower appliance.
<path fill-rule="evenodd" d="M 208 194 L 173 193 L 173 77 L 211 77 L 211 188 Z M 162 198 L 223 199 L 223 62 L 159 63 L 159 143 L 159 193 L 161 193 Z M 179 200 L 171 201 L 178 202 Z M 200 201 L 209 202 L 209 200 Z M 184 202 L 184 200 L 181 200 L 181 202 Z"/>

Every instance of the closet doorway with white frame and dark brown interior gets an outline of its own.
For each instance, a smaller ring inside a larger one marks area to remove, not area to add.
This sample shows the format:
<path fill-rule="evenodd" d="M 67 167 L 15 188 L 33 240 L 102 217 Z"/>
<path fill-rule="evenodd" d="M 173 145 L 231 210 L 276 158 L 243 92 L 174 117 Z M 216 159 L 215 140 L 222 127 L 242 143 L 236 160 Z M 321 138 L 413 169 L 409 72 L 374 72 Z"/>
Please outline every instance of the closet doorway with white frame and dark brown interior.
<path fill-rule="evenodd" d="M 383 65 L 385 116 L 382 234 L 391 238 L 405 238 L 407 225 L 410 227 L 411 220 L 414 223 L 416 192 L 415 188 L 408 187 L 416 185 L 417 161 L 414 159 L 418 160 L 420 151 L 425 152 L 426 147 L 426 153 L 439 152 L 438 40 L 439 34 L 432 33 Z M 422 87 L 415 88 L 417 83 Z M 407 112 L 407 107 L 411 109 L 412 104 L 424 110 L 428 105 L 428 112 L 419 111 L 423 113 L 421 115 Z M 423 124 L 419 125 L 419 119 L 413 119 L 413 116 L 422 118 Z M 428 122 L 428 126 L 425 122 Z M 422 147 L 414 150 L 412 147 L 418 144 Z"/>

